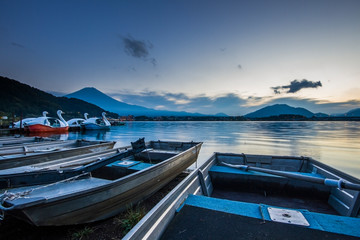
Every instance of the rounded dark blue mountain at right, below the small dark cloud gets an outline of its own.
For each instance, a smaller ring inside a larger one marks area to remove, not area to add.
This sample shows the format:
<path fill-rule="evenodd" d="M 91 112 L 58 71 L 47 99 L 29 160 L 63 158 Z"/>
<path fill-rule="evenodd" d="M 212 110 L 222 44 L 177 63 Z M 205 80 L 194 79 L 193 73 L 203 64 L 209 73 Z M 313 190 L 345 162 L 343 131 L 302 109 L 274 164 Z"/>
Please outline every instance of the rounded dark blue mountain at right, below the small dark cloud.
<path fill-rule="evenodd" d="M 261 108 L 255 112 L 246 114 L 244 117 L 247 118 L 265 118 L 279 115 L 299 115 L 307 118 L 314 116 L 314 113 L 310 112 L 305 108 L 294 108 L 286 104 L 275 104 Z"/>

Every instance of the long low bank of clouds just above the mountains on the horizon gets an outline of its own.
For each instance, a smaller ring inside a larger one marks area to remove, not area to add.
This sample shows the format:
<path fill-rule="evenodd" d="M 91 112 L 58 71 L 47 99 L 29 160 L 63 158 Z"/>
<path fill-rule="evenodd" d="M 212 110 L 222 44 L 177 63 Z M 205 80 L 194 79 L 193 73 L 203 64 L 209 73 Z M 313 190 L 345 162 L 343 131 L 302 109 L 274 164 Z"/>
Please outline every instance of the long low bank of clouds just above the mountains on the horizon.
<path fill-rule="evenodd" d="M 307 108 L 314 113 L 323 112 L 327 114 L 345 113 L 360 106 L 360 101 L 357 100 L 347 102 L 327 102 L 297 97 L 242 97 L 235 93 L 210 97 L 205 94 L 189 96 L 185 93 L 155 91 L 135 93 L 124 91 L 109 95 L 129 104 L 158 110 L 198 112 L 211 115 L 222 112 L 231 116 L 245 115 L 273 104 L 288 104 L 293 107 Z"/>

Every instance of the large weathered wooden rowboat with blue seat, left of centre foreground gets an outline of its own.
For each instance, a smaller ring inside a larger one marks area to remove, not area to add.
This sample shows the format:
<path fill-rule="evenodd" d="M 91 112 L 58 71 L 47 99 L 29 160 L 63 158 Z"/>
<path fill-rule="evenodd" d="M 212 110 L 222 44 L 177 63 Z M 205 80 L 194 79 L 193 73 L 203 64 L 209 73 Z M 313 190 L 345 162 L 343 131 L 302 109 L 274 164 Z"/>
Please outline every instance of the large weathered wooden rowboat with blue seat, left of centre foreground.
<path fill-rule="evenodd" d="M 0 195 L 4 216 L 36 226 L 73 225 L 112 217 L 165 186 L 193 164 L 201 142 L 150 141 L 145 150 L 90 173 L 13 188 Z"/>

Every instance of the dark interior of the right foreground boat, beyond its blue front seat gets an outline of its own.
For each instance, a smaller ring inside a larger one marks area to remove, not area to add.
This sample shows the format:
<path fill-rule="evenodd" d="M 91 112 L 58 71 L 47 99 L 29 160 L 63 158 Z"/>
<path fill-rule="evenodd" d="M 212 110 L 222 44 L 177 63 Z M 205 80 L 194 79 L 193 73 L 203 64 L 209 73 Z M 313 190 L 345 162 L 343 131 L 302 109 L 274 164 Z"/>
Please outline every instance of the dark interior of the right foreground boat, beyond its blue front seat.
<path fill-rule="evenodd" d="M 272 174 L 243 171 L 222 162 L 246 164 L 272 170 L 286 171 L 302 176 L 340 179 L 341 173 L 325 169 L 321 163 L 307 158 L 283 158 L 272 156 L 216 155 L 216 164 L 208 173 L 211 179 L 211 197 L 267 204 L 311 212 L 342 216 L 358 216 L 359 191 L 339 189 L 304 180 Z"/>

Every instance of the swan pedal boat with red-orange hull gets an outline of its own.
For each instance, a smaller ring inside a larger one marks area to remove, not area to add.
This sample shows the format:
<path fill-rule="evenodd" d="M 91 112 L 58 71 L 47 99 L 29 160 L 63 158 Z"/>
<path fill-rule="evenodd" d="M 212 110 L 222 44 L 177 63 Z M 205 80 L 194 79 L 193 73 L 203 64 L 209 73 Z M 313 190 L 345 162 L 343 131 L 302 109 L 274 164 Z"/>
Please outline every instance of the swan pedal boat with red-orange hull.
<path fill-rule="evenodd" d="M 24 129 L 30 133 L 38 132 L 52 132 L 52 133 L 66 133 L 69 130 L 69 125 L 62 117 L 64 112 L 57 111 L 59 118 L 38 117 L 30 122 L 24 124 Z"/>

